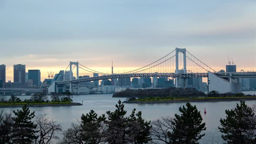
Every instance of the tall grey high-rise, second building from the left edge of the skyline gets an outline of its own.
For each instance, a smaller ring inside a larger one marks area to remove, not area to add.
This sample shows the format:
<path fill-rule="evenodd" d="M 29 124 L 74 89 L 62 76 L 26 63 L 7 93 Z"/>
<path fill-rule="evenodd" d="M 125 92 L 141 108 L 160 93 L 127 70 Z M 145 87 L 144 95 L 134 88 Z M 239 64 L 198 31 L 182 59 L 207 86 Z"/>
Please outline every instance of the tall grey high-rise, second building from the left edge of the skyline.
<path fill-rule="evenodd" d="M 21 86 L 25 86 L 26 65 L 13 65 L 13 81 L 21 83 Z"/>

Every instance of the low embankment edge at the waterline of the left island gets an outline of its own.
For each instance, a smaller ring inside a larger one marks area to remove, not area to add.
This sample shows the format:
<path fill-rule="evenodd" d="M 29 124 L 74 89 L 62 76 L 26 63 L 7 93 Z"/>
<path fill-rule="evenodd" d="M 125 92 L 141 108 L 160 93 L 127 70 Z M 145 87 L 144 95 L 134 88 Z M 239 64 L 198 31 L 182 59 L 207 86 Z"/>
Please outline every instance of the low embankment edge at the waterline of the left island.
<path fill-rule="evenodd" d="M 56 107 L 56 106 L 77 106 L 82 105 L 80 103 L 72 102 L 68 104 L 27 104 L 27 107 Z M 0 105 L 0 108 L 18 108 L 22 107 L 23 105 Z"/>

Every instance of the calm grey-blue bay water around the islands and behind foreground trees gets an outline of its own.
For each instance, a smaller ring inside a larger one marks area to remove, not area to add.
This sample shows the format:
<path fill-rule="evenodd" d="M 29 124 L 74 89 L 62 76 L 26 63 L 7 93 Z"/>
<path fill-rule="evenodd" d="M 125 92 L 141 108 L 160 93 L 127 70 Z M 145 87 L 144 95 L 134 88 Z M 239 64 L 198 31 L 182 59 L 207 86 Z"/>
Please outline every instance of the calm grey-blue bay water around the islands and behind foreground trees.
<path fill-rule="evenodd" d="M 256 94 L 256 92 L 252 92 Z M 9 96 L 10 97 L 10 96 Z M 7 97 L 7 98 L 9 98 Z M 21 99 L 29 99 L 30 96 L 20 96 Z M 63 129 L 70 127 L 70 124 L 76 123 L 80 120 L 82 114 L 89 113 L 90 110 L 94 110 L 98 115 L 105 114 L 106 111 L 114 111 L 115 104 L 120 99 L 125 101 L 126 98 L 112 98 L 112 95 L 74 95 L 74 102 L 80 102 L 82 106 L 60 106 L 60 107 L 31 107 L 31 111 L 35 111 L 36 115 L 48 114 L 47 116 L 55 121 L 58 121 Z M 192 105 L 196 105 L 197 109 L 201 112 L 203 122 L 206 123 L 207 130 L 204 131 L 206 136 L 200 141 L 201 143 L 212 144 L 211 140 L 214 135 L 214 141 L 223 143 L 220 132 L 217 128 L 220 126 L 220 118 L 225 118 L 225 110 L 232 109 L 236 106 L 236 103 L 240 101 L 220 101 L 220 102 L 191 102 Z M 154 121 L 161 117 L 171 116 L 178 113 L 178 108 L 186 103 L 171 103 L 171 104 L 125 104 L 125 110 L 130 115 L 133 108 L 137 111 L 142 111 L 142 117 L 148 121 Z M 246 104 L 253 106 L 256 101 L 246 101 Z M 207 114 L 204 115 L 204 108 L 206 108 Z M 3 111 L 13 111 L 20 108 L 0 108 Z"/>

